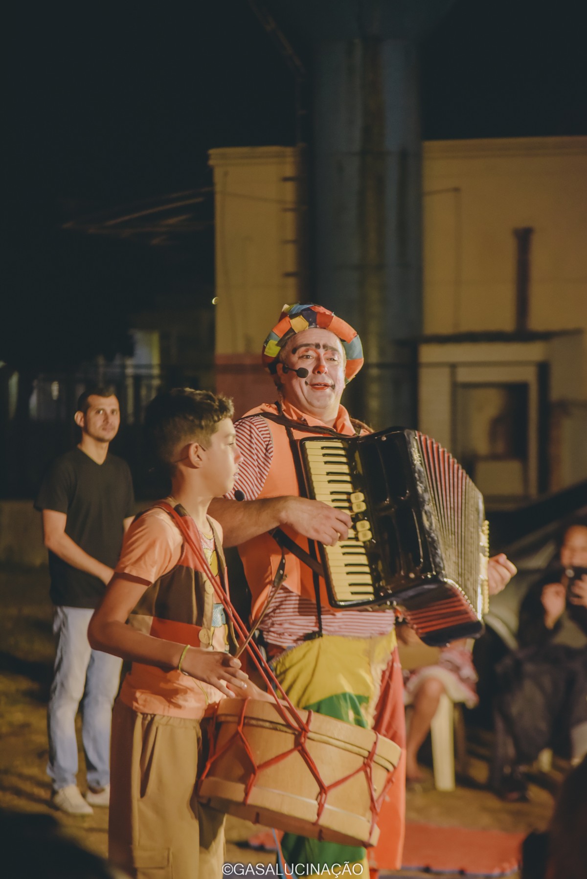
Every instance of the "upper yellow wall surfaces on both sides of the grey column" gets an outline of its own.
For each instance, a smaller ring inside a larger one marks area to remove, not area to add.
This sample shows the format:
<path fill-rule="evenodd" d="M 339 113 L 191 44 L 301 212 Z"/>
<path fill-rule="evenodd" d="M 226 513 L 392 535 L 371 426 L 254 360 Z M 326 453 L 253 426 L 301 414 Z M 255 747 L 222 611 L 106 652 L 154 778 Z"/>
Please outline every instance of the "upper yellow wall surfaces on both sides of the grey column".
<path fill-rule="evenodd" d="M 529 329 L 587 330 L 587 137 L 424 142 L 423 161 L 424 332 L 515 328 L 522 227 L 534 229 Z M 213 149 L 210 164 L 216 353 L 256 355 L 299 298 L 297 154 Z M 587 399 L 587 357 L 579 384 Z"/>

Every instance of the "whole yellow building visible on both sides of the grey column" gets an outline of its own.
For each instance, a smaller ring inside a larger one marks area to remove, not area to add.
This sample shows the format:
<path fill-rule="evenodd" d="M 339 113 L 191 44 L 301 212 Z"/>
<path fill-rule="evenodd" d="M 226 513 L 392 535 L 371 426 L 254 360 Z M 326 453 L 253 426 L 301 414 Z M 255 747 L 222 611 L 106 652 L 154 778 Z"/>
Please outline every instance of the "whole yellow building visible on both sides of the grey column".
<path fill-rule="evenodd" d="M 299 298 L 296 151 L 216 149 L 210 163 L 216 381 L 242 412 L 273 398 L 260 345 Z M 579 482 L 587 138 L 426 142 L 423 179 L 417 426 L 467 466 L 489 505 Z"/>

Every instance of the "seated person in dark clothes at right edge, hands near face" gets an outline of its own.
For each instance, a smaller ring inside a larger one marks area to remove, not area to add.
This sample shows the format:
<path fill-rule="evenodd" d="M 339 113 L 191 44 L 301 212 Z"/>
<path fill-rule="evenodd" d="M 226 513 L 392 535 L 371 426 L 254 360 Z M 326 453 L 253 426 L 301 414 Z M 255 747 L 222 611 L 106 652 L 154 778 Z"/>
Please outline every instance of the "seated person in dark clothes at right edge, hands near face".
<path fill-rule="evenodd" d="M 518 650 L 497 666 L 496 745 L 491 784 L 525 799 L 520 770 L 563 735 L 575 763 L 587 752 L 587 524 L 567 527 L 560 564 L 528 592 Z"/>

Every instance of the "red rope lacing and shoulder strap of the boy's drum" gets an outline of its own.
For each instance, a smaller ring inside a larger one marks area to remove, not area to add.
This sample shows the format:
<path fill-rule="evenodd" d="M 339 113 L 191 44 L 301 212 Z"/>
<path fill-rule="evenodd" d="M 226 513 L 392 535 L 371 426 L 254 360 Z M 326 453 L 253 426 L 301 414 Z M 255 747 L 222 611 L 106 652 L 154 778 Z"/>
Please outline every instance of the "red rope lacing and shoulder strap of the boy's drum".
<path fill-rule="evenodd" d="M 186 543 L 192 549 L 194 556 L 196 556 L 198 563 L 201 565 L 202 571 L 206 574 L 210 583 L 213 585 L 216 597 L 220 600 L 222 606 L 224 607 L 224 610 L 225 610 L 226 614 L 228 615 L 228 619 L 232 622 L 237 634 L 239 636 L 241 636 L 243 639 L 246 639 L 246 637 L 248 635 L 247 628 L 244 626 L 243 621 L 241 620 L 239 615 L 236 613 L 236 610 L 233 607 L 232 602 L 228 598 L 227 593 L 224 592 L 222 585 L 221 585 L 220 578 L 217 575 L 215 575 L 213 573 L 212 569 L 210 568 L 210 564 L 208 563 L 207 557 L 205 556 L 204 551 L 201 547 L 200 539 L 199 539 L 199 545 L 198 545 L 196 543 L 196 541 L 194 541 L 192 534 L 190 534 L 190 532 L 185 527 L 183 517 L 180 516 L 178 514 L 178 512 L 176 512 L 176 510 L 170 504 L 168 504 L 166 501 L 161 501 L 158 504 L 156 504 L 156 506 L 160 507 L 162 510 L 169 513 L 171 518 L 175 521 L 176 525 L 179 528 L 179 531 L 181 532 L 181 534 L 183 534 Z M 199 537 L 199 533 L 198 533 L 198 537 Z M 386 784 L 384 785 L 380 795 L 378 797 L 375 797 L 375 789 L 373 786 L 373 761 L 375 759 L 375 754 L 377 752 L 377 746 L 379 744 L 380 734 L 375 731 L 375 738 L 373 741 L 373 747 L 371 748 L 371 752 L 369 752 L 369 755 L 364 760 L 362 766 L 359 766 L 359 768 L 355 769 L 354 772 L 351 772 L 348 775 L 345 775 L 344 778 L 340 778 L 337 781 L 333 781 L 329 785 L 325 784 L 324 781 L 322 780 L 322 777 L 321 777 L 319 771 L 318 771 L 318 767 L 315 765 L 314 759 L 312 758 L 311 754 L 308 752 L 308 747 L 306 745 L 306 742 L 308 740 L 308 734 L 310 732 L 310 723 L 311 723 L 313 712 L 308 711 L 308 719 L 306 721 L 304 721 L 304 719 L 299 714 L 298 710 L 295 708 L 293 702 L 290 701 L 288 695 L 286 694 L 286 691 L 279 683 L 279 680 L 276 678 L 275 674 L 273 673 L 271 666 L 267 663 L 267 660 L 265 659 L 263 653 L 261 652 L 261 650 L 259 650 L 257 643 L 255 643 L 254 641 L 250 641 L 247 644 L 246 649 L 248 650 L 250 657 L 253 660 L 254 664 L 257 666 L 257 670 L 260 673 L 261 678 L 264 680 L 265 685 L 267 686 L 269 693 L 272 694 L 272 696 L 275 700 L 275 705 L 276 705 L 276 708 L 278 709 L 279 715 L 283 719 L 286 726 L 289 727 L 291 730 L 294 730 L 296 744 L 292 748 L 290 748 L 288 751 L 285 751 L 281 754 L 277 754 L 275 757 L 272 757 L 272 759 L 265 760 L 265 762 L 263 762 L 263 763 L 257 763 L 257 761 L 255 760 L 255 758 L 253 756 L 253 753 L 250 750 L 249 742 L 247 741 L 247 738 L 244 735 L 244 731 L 243 731 L 244 721 L 245 721 L 245 716 L 246 716 L 246 707 L 247 707 L 247 703 L 249 702 L 249 698 L 246 698 L 243 700 L 240 715 L 239 715 L 238 721 L 236 723 L 235 732 L 233 733 L 233 735 L 230 738 L 228 738 L 228 740 L 224 743 L 224 745 L 222 745 L 222 747 L 220 749 L 216 745 L 217 737 L 216 737 L 215 733 L 216 733 L 217 716 L 216 716 L 216 713 L 214 713 L 213 729 L 212 729 L 211 736 L 210 736 L 211 741 L 212 741 L 212 749 L 211 749 L 210 755 L 207 759 L 206 766 L 204 767 L 204 771 L 200 775 L 200 781 L 203 781 L 206 778 L 206 776 L 209 773 L 214 762 L 217 759 L 219 759 L 222 754 L 224 754 L 225 752 L 228 751 L 228 749 L 233 745 L 233 743 L 236 741 L 236 739 L 240 739 L 240 741 L 243 745 L 244 751 L 246 752 L 247 757 L 250 760 L 251 774 L 250 774 L 249 781 L 247 781 L 247 783 L 245 785 L 244 801 L 243 801 L 244 803 L 248 803 L 251 791 L 255 787 L 255 784 L 257 782 L 258 774 L 263 769 L 267 768 L 268 766 L 274 766 L 276 763 L 280 763 L 282 760 L 289 757 L 290 754 L 294 754 L 295 752 L 298 752 L 301 755 L 301 758 L 304 760 L 304 762 L 308 766 L 308 769 L 309 769 L 310 773 L 313 775 L 315 782 L 318 785 L 318 788 L 320 788 L 320 792 L 318 794 L 317 801 L 316 801 L 317 802 L 317 813 L 316 813 L 316 817 L 315 817 L 315 821 L 314 821 L 315 825 L 319 823 L 320 818 L 322 817 L 322 812 L 326 806 L 330 790 L 339 787 L 341 784 L 344 784 L 345 781 L 349 781 L 349 779 L 353 778 L 355 775 L 359 775 L 361 773 L 365 774 L 367 787 L 369 789 L 369 799 L 370 799 L 370 803 L 371 803 L 372 820 L 371 820 L 371 827 L 370 827 L 370 833 L 369 833 L 369 835 L 371 835 L 373 833 L 373 829 L 376 824 L 377 817 L 379 816 L 379 811 L 380 811 L 381 804 L 383 803 L 383 798 L 387 794 L 390 785 L 393 783 L 393 781 L 395 779 L 395 774 L 393 772 L 390 773 L 388 780 L 386 781 Z M 279 694 L 281 694 L 283 701 L 286 702 L 287 710 L 286 710 L 286 707 L 283 705 L 283 702 L 279 700 L 279 698 L 275 692 L 274 687 L 279 689 Z"/>

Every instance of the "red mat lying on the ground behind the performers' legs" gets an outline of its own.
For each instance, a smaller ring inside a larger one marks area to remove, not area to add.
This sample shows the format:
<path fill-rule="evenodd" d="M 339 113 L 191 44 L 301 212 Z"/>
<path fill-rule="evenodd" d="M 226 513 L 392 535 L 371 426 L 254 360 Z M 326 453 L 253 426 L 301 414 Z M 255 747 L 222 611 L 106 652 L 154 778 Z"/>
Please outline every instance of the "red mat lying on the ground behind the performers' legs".
<path fill-rule="evenodd" d="M 467 830 L 465 827 L 408 824 L 402 870 L 430 870 L 432 874 L 508 875 L 518 868 L 524 837 L 524 833 L 506 833 L 500 830 Z M 266 831 L 256 833 L 249 843 L 253 848 L 275 847 L 272 833 Z M 388 864 L 373 863 L 373 852 L 374 849 L 367 852 L 370 866 L 379 868 L 384 873 Z"/>

